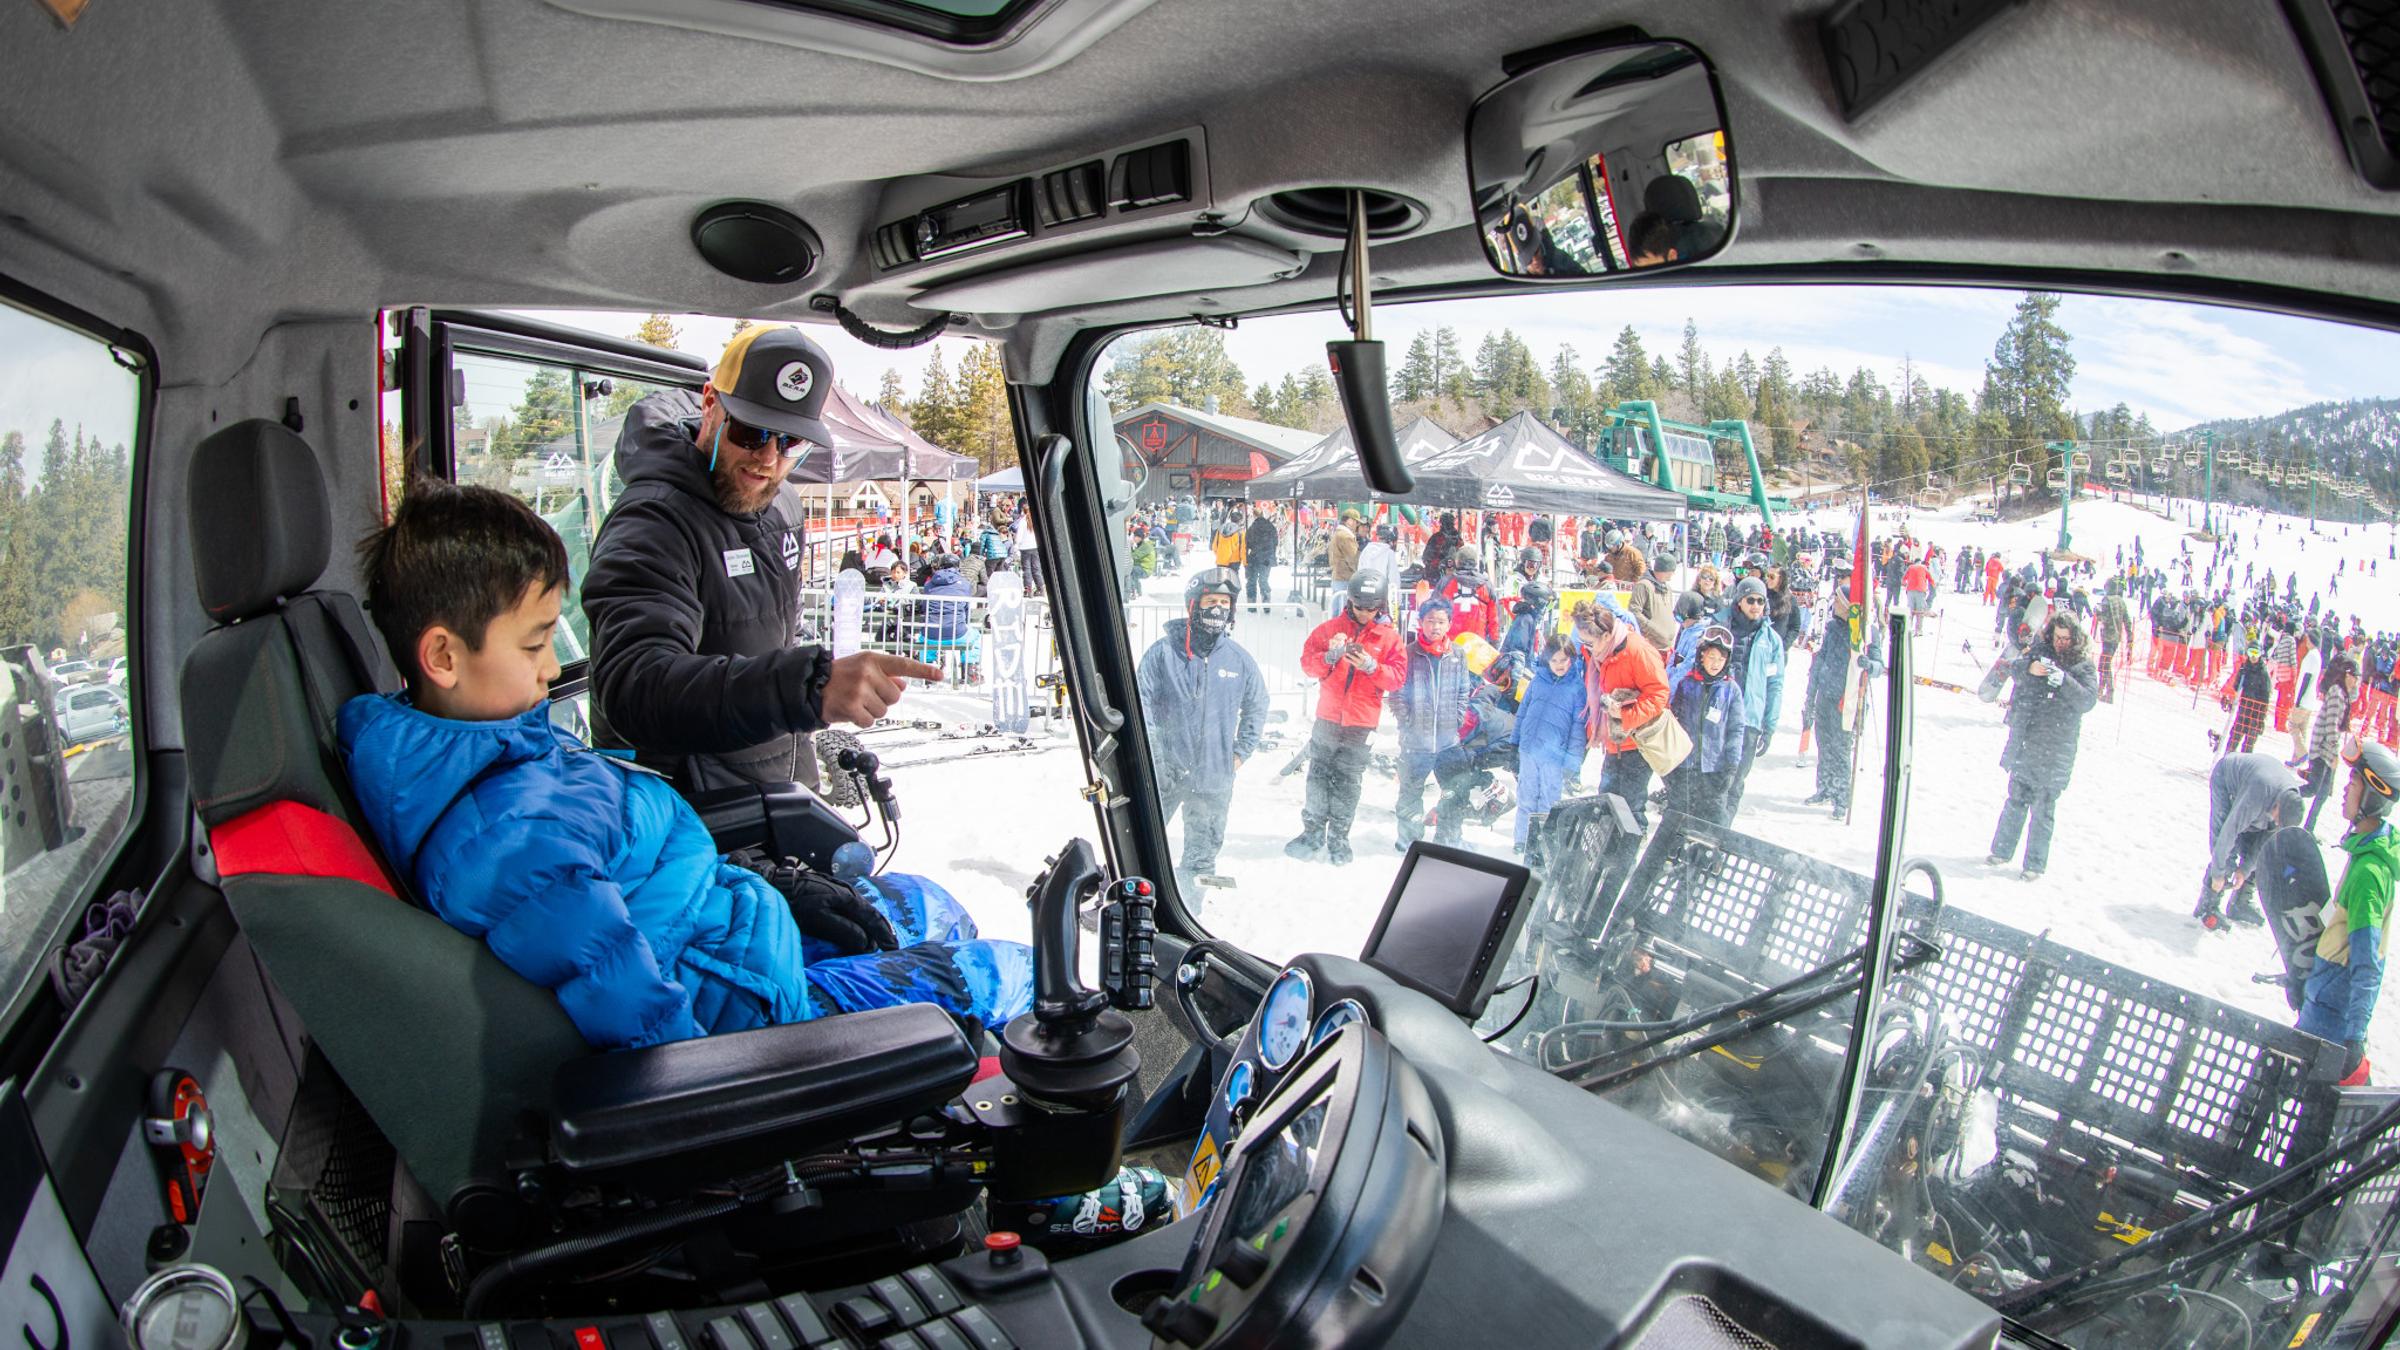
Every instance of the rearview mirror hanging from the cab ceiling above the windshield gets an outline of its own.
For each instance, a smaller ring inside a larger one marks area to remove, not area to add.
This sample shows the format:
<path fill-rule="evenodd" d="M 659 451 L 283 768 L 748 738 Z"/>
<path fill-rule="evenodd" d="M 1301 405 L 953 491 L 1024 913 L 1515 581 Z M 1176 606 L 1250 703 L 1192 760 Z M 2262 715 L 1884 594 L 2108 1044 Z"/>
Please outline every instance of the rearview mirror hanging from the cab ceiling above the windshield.
<path fill-rule="evenodd" d="M 1682 267 L 1733 238 L 1726 103 L 1685 43 L 1606 46 L 1512 74 L 1466 115 L 1466 175 L 1502 276 Z"/>

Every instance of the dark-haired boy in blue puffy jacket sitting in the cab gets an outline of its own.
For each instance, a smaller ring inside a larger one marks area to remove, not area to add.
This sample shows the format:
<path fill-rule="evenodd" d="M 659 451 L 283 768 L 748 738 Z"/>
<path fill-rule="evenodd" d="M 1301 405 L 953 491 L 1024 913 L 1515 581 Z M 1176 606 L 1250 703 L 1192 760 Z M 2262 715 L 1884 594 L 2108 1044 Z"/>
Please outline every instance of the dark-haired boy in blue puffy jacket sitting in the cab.
<path fill-rule="evenodd" d="M 358 805 L 418 896 L 588 1043 L 890 1004 L 998 1028 L 1032 1006 L 1032 951 L 979 939 L 931 882 L 778 872 L 778 889 L 720 858 L 665 778 L 554 728 L 566 550 L 530 507 L 410 483 L 360 552 L 408 692 L 341 709 Z"/>

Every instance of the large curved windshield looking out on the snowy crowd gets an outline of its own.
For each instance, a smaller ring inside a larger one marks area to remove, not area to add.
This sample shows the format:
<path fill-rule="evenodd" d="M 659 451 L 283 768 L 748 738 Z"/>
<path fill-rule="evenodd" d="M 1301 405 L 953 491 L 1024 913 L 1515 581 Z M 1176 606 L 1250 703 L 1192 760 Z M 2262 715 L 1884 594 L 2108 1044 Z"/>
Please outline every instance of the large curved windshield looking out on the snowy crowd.
<path fill-rule="evenodd" d="M 1378 317 L 1406 497 L 1332 315 L 1094 370 L 1207 932 L 1356 954 L 1414 841 L 1522 858 L 1498 1047 L 2033 1328 L 2282 1343 L 2388 1271 L 2400 339 L 1985 288 Z"/>

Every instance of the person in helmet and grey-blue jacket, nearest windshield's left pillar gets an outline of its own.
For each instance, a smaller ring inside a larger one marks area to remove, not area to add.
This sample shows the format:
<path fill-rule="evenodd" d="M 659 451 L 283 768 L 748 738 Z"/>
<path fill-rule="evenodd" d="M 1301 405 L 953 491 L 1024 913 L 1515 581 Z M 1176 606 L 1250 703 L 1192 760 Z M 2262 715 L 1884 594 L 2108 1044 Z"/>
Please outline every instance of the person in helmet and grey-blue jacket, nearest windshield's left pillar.
<path fill-rule="evenodd" d="M 1174 824 L 1183 812 L 1176 879 L 1193 910 L 1200 882 L 1217 882 L 1234 773 L 1258 754 L 1267 728 L 1267 677 L 1231 637 L 1238 598 L 1231 572 L 1195 574 L 1183 586 L 1183 617 L 1150 644 L 1135 675 L 1150 761 L 1159 771 L 1159 819 Z"/>

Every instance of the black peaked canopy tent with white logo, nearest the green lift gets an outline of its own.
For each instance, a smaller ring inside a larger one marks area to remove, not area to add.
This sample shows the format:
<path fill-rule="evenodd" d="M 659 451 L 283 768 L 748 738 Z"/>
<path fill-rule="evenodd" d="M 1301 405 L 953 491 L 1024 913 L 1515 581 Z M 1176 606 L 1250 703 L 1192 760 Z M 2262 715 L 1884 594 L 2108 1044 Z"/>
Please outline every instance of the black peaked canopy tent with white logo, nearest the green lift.
<path fill-rule="evenodd" d="M 1680 521 L 1682 492 L 1608 468 L 1534 413 L 1462 440 L 1409 466 L 1416 507 L 1562 512 L 1613 521 Z"/>

